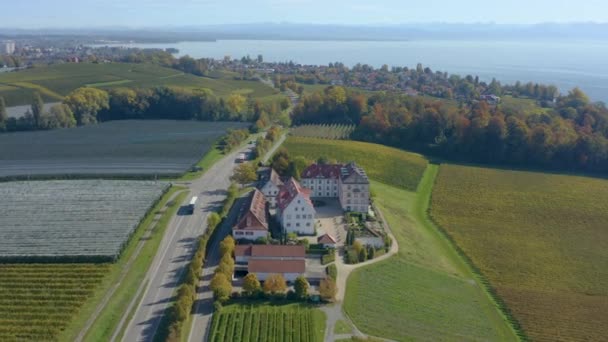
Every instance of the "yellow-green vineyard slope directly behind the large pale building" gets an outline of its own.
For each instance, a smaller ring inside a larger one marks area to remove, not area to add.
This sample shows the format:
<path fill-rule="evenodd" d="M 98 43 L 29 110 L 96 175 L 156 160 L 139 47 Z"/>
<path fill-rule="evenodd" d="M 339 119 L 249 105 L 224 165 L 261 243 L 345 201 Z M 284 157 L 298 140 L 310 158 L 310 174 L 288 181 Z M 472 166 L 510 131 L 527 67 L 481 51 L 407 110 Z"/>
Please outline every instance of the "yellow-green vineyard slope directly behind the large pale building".
<path fill-rule="evenodd" d="M 355 161 L 370 178 L 408 190 L 416 189 L 428 164 L 419 154 L 358 141 L 291 136 L 284 146 L 292 156 L 311 160 L 324 156 L 339 162 Z"/>

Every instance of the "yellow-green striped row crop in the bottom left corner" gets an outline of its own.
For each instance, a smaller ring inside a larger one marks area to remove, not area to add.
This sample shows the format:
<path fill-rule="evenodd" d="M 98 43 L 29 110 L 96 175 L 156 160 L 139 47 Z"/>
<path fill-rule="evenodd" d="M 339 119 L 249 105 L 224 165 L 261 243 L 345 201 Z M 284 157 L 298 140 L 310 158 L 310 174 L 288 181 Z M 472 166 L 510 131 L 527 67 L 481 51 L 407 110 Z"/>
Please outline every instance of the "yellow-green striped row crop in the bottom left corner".
<path fill-rule="evenodd" d="M 0 341 L 56 341 L 108 264 L 0 264 Z"/>

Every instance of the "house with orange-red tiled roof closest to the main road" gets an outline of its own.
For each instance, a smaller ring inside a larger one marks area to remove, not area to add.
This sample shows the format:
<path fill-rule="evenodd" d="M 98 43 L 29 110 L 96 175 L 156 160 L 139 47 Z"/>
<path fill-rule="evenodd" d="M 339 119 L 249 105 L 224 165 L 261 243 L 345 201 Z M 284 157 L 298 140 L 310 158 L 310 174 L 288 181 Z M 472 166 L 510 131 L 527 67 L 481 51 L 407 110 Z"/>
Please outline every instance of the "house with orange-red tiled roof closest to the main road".
<path fill-rule="evenodd" d="M 237 224 L 232 227 L 235 240 L 255 241 L 268 236 L 266 198 L 257 189 L 251 192 L 247 204 L 239 212 Z"/>

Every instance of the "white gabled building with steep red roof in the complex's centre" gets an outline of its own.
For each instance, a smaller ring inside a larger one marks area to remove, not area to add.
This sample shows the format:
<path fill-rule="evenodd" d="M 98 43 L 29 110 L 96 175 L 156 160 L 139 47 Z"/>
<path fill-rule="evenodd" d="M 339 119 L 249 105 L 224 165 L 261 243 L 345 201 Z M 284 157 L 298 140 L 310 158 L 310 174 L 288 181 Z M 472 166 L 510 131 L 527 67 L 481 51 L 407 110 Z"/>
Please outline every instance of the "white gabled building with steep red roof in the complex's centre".
<path fill-rule="evenodd" d="M 287 233 L 315 234 L 315 208 L 310 200 L 311 191 L 290 178 L 277 196 L 277 218 Z"/>

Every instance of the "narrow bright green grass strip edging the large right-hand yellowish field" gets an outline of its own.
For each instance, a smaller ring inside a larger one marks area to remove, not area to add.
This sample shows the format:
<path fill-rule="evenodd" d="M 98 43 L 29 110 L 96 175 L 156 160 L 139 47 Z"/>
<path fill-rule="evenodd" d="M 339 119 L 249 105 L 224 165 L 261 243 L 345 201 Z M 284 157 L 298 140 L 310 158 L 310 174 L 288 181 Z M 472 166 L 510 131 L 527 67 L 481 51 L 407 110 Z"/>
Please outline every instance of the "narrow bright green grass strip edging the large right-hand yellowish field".
<path fill-rule="evenodd" d="M 511 329 L 513 329 L 515 336 L 517 336 L 521 341 L 527 342 L 529 341 L 529 337 L 526 335 L 524 330 L 521 327 L 519 321 L 513 316 L 513 313 L 506 305 L 506 303 L 502 300 L 502 298 L 498 295 L 492 283 L 486 278 L 486 276 L 481 272 L 481 270 L 473 263 L 473 260 L 464 252 L 462 248 L 456 243 L 451 234 L 443 228 L 437 221 L 433 218 L 432 212 L 432 199 L 433 199 L 433 188 L 437 182 L 437 174 L 439 173 L 440 164 L 429 164 L 437 166 L 437 173 L 433 175 L 433 186 L 431 187 L 431 191 L 429 194 L 429 200 L 427 203 L 426 216 L 431 224 L 435 226 L 437 232 L 447 240 L 447 242 L 454 248 L 458 256 L 461 260 L 466 264 L 469 268 L 469 271 L 473 274 L 473 276 L 477 279 L 477 281 L 482 285 L 483 292 L 490 298 L 490 300 L 496 305 L 500 314 L 505 318 L 508 322 Z"/>

